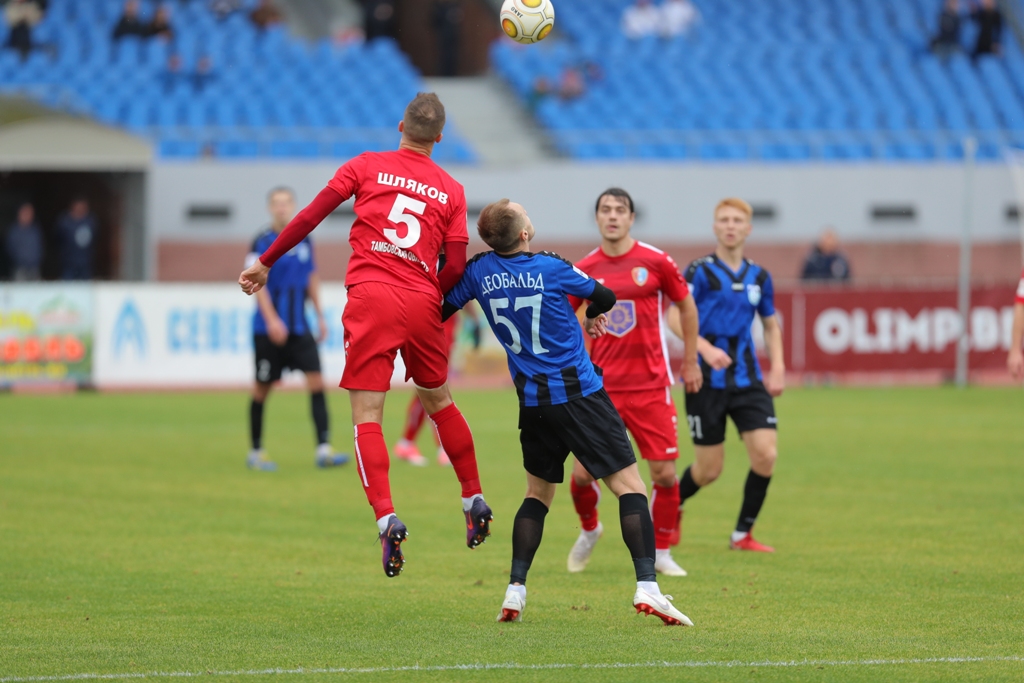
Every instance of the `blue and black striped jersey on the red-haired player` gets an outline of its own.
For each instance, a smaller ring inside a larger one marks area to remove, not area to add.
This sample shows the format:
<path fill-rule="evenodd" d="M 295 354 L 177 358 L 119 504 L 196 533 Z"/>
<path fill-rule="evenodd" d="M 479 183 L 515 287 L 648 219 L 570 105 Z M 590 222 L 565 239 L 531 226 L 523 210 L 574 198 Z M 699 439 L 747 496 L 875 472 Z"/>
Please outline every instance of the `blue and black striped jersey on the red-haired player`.
<path fill-rule="evenodd" d="M 743 259 L 733 271 L 712 254 L 686 269 L 686 282 L 700 315 L 700 336 L 729 354 L 732 365 L 712 370 L 701 360 L 705 384 L 713 389 L 741 389 L 763 382 L 751 327 L 754 316 L 775 314 L 775 290 L 771 275 L 760 265 Z"/>

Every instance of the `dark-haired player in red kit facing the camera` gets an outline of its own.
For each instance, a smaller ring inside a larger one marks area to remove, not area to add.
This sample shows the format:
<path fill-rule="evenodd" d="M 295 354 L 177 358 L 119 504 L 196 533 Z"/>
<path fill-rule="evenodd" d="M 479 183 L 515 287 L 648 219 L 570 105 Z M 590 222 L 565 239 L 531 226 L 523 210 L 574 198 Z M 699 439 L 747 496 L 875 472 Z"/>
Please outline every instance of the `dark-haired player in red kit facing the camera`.
<path fill-rule="evenodd" d="M 672 257 L 630 234 L 636 212 L 629 193 L 617 187 L 605 190 L 597 200 L 596 217 L 601 246 L 577 267 L 614 292 L 617 302 L 607 313 L 608 334 L 594 341 L 591 358 L 604 372 L 608 396 L 650 466 L 654 568 L 669 577 L 685 577 L 671 549 L 679 537 L 679 443 L 663 312 L 674 303 L 682 313 L 683 380 L 686 391 L 692 393 L 702 382 L 697 366 L 697 308 Z M 581 302 L 570 303 L 579 308 Z M 586 568 L 603 527 L 597 515 L 600 488 L 579 462 L 572 467 L 570 488 L 583 527 L 568 557 L 568 570 L 574 572 Z"/>

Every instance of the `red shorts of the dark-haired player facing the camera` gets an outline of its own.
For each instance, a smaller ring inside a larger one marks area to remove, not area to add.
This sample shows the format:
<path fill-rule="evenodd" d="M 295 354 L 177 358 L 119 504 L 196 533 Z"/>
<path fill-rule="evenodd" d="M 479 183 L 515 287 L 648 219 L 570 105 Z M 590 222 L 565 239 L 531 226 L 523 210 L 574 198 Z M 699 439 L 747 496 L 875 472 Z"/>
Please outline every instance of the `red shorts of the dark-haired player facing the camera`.
<path fill-rule="evenodd" d="M 676 403 L 669 389 L 608 392 L 644 460 L 679 458 Z"/>

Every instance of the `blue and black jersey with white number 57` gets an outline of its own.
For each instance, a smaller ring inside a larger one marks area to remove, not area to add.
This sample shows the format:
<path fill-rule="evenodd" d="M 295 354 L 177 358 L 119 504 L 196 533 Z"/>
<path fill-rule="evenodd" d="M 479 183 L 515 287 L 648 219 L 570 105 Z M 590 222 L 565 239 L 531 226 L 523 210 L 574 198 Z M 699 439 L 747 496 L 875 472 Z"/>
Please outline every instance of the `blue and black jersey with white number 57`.
<path fill-rule="evenodd" d="M 476 299 L 505 347 L 520 405 L 557 405 L 602 388 L 587 355 L 569 296 L 587 299 L 596 283 L 556 254 L 477 254 L 444 300 Z"/>

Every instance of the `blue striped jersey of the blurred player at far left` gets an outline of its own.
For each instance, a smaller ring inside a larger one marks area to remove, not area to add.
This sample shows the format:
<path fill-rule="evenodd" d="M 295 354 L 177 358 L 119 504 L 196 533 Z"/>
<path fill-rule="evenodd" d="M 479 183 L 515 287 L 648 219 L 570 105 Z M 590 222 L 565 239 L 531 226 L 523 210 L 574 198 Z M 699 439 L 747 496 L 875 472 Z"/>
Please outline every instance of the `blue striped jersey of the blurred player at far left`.
<path fill-rule="evenodd" d="M 247 267 L 256 262 L 259 255 L 270 248 L 278 233 L 271 229 L 264 230 L 253 242 Z M 266 279 L 266 293 L 273 301 L 273 308 L 282 322 L 288 326 L 289 334 L 299 336 L 309 332 L 306 322 L 306 297 L 309 291 L 309 276 L 316 272 L 316 261 L 313 258 L 313 243 L 306 238 L 297 244 L 290 252 L 270 269 Z M 259 307 L 253 316 L 253 334 L 266 334 L 266 321 Z"/>

